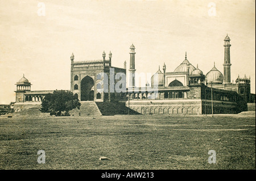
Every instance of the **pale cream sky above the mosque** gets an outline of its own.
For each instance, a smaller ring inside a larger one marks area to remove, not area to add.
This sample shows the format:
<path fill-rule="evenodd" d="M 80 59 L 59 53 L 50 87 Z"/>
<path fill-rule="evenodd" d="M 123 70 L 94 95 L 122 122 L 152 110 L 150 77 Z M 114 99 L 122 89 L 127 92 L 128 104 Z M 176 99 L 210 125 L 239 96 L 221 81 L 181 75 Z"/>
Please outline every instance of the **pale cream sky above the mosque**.
<path fill-rule="evenodd" d="M 0 104 L 15 101 L 23 74 L 31 90 L 70 90 L 72 53 L 75 61 L 99 60 L 111 50 L 112 66 L 123 68 L 131 44 L 137 73 L 164 63 L 174 71 L 187 51 L 204 74 L 214 62 L 223 74 L 227 33 L 231 79 L 250 76 L 255 93 L 254 0 L 1 0 Z"/>

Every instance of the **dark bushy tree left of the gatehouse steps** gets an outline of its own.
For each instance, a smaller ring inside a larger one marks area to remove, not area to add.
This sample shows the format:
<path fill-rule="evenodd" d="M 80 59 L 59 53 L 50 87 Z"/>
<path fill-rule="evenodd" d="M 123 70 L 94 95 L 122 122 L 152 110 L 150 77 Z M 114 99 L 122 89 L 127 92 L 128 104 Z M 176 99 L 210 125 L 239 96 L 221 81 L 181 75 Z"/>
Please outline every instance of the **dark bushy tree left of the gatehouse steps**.
<path fill-rule="evenodd" d="M 65 115 L 68 115 L 68 112 L 74 108 L 80 108 L 81 103 L 73 95 L 73 92 L 55 90 L 44 97 L 41 106 L 41 112 L 54 112 L 57 115 L 61 115 L 61 112 L 65 111 Z"/>

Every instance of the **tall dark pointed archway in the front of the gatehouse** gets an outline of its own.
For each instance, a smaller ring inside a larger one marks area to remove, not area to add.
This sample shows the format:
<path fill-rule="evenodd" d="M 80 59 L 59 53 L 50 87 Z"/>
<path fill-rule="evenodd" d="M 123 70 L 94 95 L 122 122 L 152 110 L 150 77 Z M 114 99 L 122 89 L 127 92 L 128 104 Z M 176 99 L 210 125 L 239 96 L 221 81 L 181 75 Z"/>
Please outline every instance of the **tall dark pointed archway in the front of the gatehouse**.
<path fill-rule="evenodd" d="M 81 101 L 94 100 L 94 91 L 92 90 L 93 86 L 94 86 L 94 81 L 88 75 L 82 79 L 82 81 L 81 81 Z"/>

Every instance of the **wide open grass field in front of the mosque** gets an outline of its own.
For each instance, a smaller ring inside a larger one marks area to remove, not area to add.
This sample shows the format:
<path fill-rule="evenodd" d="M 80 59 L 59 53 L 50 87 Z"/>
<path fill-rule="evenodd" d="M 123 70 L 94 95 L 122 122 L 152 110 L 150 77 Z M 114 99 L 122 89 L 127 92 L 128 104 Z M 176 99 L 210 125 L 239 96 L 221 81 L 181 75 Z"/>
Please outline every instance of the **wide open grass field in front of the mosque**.
<path fill-rule="evenodd" d="M 0 117 L 0 169 L 255 169 L 255 117 Z"/>

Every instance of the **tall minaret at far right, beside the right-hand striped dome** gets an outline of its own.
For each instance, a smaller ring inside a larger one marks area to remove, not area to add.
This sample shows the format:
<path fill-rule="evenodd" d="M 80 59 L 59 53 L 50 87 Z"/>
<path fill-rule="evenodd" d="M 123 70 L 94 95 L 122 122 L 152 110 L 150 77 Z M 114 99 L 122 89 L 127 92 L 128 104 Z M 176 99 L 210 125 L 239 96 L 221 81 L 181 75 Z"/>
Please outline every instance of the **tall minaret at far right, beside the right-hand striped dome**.
<path fill-rule="evenodd" d="M 226 35 L 225 39 L 225 53 L 224 53 L 224 80 L 223 83 L 230 83 L 231 79 L 230 79 L 230 39 L 228 34 Z"/>

